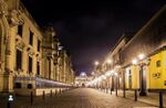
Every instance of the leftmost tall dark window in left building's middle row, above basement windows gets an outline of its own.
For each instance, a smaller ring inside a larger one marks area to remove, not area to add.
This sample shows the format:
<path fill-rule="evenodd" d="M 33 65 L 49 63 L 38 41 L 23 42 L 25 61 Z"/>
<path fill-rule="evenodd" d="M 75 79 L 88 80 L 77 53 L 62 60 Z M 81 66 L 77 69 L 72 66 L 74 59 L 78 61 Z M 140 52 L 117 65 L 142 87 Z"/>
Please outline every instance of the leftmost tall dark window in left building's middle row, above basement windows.
<path fill-rule="evenodd" d="M 21 69 L 21 64 L 22 64 L 22 52 L 17 50 L 17 56 L 15 56 L 15 64 L 17 64 L 17 71 Z"/>

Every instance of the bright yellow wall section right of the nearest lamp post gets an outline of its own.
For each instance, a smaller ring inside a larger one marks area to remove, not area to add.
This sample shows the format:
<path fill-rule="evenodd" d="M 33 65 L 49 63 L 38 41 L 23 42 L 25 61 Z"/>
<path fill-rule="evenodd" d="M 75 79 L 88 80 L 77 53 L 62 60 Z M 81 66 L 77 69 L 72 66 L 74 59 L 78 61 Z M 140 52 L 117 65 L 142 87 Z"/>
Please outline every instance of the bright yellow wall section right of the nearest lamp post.
<path fill-rule="evenodd" d="M 160 66 L 156 66 L 156 62 L 160 61 Z M 166 51 L 162 51 L 151 56 L 149 68 L 149 88 L 166 88 Z"/>

